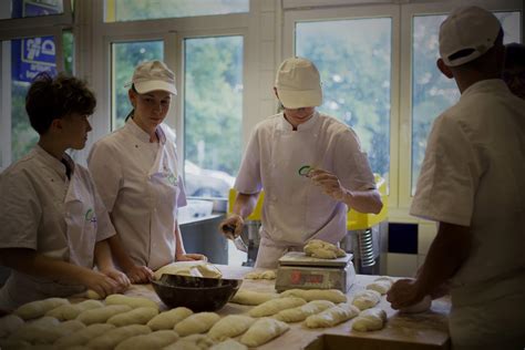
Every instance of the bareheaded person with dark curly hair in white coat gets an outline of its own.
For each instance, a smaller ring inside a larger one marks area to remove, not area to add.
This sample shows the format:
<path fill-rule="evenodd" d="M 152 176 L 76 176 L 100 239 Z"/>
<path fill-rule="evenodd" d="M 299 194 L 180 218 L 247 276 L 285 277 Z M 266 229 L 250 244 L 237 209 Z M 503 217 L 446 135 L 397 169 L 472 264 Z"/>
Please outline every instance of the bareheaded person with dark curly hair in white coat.
<path fill-rule="evenodd" d="M 86 288 L 105 297 L 130 285 L 113 266 L 107 238 L 115 231 L 95 185 L 65 153 L 85 146 L 95 104 L 84 82 L 64 75 L 41 74 L 28 91 L 40 138 L 0 175 L 0 264 L 11 268 L 0 310 Z"/>

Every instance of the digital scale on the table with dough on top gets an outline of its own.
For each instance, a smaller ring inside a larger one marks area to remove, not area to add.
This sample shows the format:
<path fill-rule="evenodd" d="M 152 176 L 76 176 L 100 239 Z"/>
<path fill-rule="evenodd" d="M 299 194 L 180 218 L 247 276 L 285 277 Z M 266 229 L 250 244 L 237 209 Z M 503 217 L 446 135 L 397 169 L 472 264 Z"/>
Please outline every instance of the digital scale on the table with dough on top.
<path fill-rule="evenodd" d="M 319 259 L 302 251 L 288 251 L 278 260 L 276 289 L 339 289 L 347 292 L 356 279 L 352 255 Z"/>

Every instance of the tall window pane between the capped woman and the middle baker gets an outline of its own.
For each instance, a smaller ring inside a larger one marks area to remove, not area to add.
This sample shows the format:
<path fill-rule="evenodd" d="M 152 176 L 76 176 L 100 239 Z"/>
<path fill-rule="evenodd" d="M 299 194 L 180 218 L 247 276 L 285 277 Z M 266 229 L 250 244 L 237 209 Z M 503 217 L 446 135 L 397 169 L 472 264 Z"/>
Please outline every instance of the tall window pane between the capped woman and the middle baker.
<path fill-rule="evenodd" d="M 243 37 L 186 39 L 184 52 L 186 192 L 227 197 L 241 152 Z"/>

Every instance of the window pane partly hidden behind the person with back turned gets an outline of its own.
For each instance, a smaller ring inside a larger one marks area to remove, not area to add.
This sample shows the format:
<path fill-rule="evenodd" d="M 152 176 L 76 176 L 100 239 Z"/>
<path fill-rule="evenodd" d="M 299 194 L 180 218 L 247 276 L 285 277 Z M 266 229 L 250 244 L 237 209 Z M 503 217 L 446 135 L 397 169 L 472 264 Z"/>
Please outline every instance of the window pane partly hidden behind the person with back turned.
<path fill-rule="evenodd" d="M 519 12 L 496 12 L 504 42 L 521 42 Z M 437 70 L 440 24 L 446 16 L 416 16 L 412 37 L 412 195 L 434 119 L 457 102 L 460 91 L 453 80 Z"/>

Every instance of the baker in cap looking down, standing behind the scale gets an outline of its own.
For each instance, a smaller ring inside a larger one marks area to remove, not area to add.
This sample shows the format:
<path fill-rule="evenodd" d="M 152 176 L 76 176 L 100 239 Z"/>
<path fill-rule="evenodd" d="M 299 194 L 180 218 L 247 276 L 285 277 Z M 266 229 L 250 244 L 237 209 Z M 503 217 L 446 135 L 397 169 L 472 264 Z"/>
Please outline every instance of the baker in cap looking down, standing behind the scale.
<path fill-rule="evenodd" d="M 228 226 L 240 235 L 264 188 L 256 259 L 264 268 L 276 268 L 284 254 L 302 250 L 310 238 L 338 244 L 347 234 L 347 206 L 362 213 L 382 207 L 356 133 L 316 111 L 322 90 L 313 63 L 285 60 L 274 90 L 284 112 L 255 127 L 235 183 L 233 214 L 219 225 L 226 235 Z"/>

